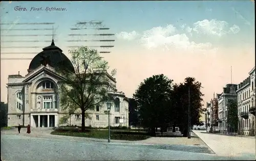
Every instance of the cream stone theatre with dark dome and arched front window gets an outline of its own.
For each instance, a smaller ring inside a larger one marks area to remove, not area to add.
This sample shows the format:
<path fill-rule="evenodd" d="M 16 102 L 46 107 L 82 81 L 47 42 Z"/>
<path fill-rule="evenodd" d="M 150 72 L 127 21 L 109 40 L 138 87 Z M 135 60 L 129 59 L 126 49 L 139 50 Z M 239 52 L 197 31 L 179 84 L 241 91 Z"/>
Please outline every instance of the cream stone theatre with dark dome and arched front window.
<path fill-rule="evenodd" d="M 31 127 L 56 127 L 60 125 L 81 125 L 80 110 L 72 113 L 69 121 L 60 124 L 60 119 L 69 115 L 69 111 L 60 106 L 59 81 L 63 77 L 56 72 L 59 62 L 64 62 L 72 70 L 71 61 L 55 46 L 54 41 L 38 53 L 30 63 L 25 76 L 9 75 L 8 77 L 8 126 L 28 125 Z M 74 69 L 73 69 L 74 70 Z M 128 99 L 123 92 L 116 89 L 116 79 L 106 71 L 108 77 L 108 95 L 114 96 L 110 111 L 111 126 L 129 126 Z M 108 126 L 106 103 L 87 111 L 86 126 Z"/>

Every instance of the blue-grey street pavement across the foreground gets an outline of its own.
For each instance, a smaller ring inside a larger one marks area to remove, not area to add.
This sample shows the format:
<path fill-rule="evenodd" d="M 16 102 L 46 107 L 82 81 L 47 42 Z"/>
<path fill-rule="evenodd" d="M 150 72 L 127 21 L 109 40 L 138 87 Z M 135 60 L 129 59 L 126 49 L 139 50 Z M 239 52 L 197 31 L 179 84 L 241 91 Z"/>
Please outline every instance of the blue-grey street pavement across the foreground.
<path fill-rule="evenodd" d="M 2 160 L 248 160 L 248 155 L 218 156 L 204 145 L 145 144 L 50 135 L 51 129 L 18 134 L 1 131 Z M 159 139 L 159 138 L 158 138 Z M 166 139 L 166 138 L 165 138 Z M 174 139 L 174 138 L 172 138 Z M 161 140 L 161 138 L 160 138 Z M 155 140 L 159 141 L 159 140 Z"/>

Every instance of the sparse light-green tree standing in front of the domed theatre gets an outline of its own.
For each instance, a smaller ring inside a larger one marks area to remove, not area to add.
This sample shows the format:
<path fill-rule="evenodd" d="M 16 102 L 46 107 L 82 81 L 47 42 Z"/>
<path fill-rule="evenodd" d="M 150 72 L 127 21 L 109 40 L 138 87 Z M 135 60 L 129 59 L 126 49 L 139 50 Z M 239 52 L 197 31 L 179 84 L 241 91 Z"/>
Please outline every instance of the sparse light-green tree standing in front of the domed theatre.
<path fill-rule="evenodd" d="M 101 105 L 107 99 L 110 84 L 108 62 L 99 56 L 97 50 L 81 46 L 69 50 L 74 71 L 70 71 L 65 62 L 58 64 L 58 72 L 64 77 L 60 82 L 61 110 L 81 111 L 81 131 L 85 131 L 86 111 Z M 112 74 L 115 74 L 112 72 Z"/>

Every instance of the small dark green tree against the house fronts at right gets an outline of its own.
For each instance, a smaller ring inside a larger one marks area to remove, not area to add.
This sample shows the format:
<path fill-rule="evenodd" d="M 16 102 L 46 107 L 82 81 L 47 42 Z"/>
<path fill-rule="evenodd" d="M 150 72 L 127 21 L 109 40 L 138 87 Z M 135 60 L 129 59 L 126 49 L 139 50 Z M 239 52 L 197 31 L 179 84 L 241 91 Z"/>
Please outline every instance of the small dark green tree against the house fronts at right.
<path fill-rule="evenodd" d="M 227 106 L 227 125 L 238 130 L 238 104 L 237 100 L 230 100 Z"/>

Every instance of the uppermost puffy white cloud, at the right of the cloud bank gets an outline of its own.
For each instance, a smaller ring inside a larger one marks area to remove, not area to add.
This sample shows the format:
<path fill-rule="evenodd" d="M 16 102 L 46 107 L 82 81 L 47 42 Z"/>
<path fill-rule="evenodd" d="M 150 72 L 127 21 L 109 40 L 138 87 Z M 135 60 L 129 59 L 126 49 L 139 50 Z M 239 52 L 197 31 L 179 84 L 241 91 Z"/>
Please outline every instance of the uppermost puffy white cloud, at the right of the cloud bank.
<path fill-rule="evenodd" d="M 228 23 L 226 21 L 218 21 L 216 19 L 211 19 L 209 21 L 204 19 L 194 23 L 193 31 L 198 34 L 222 36 L 227 33 L 225 31 L 227 25 Z"/>

